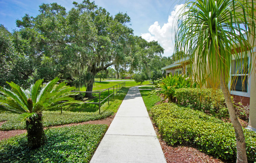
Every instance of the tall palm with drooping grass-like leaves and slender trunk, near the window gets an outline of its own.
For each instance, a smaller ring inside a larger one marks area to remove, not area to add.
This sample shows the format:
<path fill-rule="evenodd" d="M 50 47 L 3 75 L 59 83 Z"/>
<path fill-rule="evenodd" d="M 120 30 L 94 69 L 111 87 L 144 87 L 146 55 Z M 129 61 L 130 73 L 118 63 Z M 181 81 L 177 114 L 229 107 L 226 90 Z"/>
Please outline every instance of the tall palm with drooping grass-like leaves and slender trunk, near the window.
<path fill-rule="evenodd" d="M 245 137 L 230 98 L 228 83 L 232 58 L 236 64 L 253 53 L 255 24 L 253 1 L 196 0 L 188 2 L 178 16 L 176 51 L 185 51 L 197 69 L 199 83 L 219 87 L 225 96 L 237 143 L 237 162 L 247 162 Z M 251 41 L 247 38 L 251 37 Z M 250 58 L 251 60 L 252 58 Z M 244 65 L 250 61 L 244 60 Z M 248 65 L 251 72 L 253 66 Z M 241 72 L 236 72 L 241 73 Z M 243 82 L 245 78 L 243 79 Z"/>

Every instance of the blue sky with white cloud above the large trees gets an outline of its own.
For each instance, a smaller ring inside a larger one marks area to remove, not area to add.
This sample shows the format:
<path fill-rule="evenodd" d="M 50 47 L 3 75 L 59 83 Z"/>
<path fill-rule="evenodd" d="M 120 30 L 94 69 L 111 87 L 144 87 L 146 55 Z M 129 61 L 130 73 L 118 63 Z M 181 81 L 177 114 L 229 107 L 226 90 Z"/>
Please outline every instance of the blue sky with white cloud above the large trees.
<path fill-rule="evenodd" d="M 9 31 L 17 29 L 15 20 L 25 13 L 36 16 L 39 5 L 57 2 L 67 11 L 73 7 L 74 0 L 0 0 L 0 24 Z M 81 3 L 82 0 L 75 0 Z M 131 18 L 134 34 L 151 41 L 157 40 L 165 49 L 164 56 L 173 53 L 172 24 L 180 5 L 175 0 L 95 0 L 95 4 L 105 8 L 110 14 L 123 12 Z M 180 3 L 179 3 L 180 4 Z"/>

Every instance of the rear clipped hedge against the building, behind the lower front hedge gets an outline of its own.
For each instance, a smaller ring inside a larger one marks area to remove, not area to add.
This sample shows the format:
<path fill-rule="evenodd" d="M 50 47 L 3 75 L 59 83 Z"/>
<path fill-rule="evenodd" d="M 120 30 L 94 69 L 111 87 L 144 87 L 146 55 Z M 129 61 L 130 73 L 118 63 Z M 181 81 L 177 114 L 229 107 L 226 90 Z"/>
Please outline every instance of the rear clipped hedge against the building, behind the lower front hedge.
<path fill-rule="evenodd" d="M 229 116 L 225 98 L 220 89 L 215 91 L 197 88 L 177 89 L 176 98 L 180 105 L 191 109 L 201 110 L 218 118 Z"/>

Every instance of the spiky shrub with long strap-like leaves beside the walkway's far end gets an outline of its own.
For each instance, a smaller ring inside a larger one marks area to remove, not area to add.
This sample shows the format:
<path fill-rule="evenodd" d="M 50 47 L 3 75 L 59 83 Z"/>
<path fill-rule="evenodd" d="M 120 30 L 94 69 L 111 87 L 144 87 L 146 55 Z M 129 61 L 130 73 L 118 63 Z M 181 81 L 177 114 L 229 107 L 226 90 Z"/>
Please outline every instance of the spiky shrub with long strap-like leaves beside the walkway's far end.
<path fill-rule="evenodd" d="M 168 99 L 168 102 L 176 102 L 176 89 L 189 87 L 195 88 L 196 82 L 193 82 L 189 77 L 179 74 L 172 76 L 170 73 L 166 78 L 161 78 L 160 82 L 155 86 L 155 88 L 160 88 L 161 90 L 153 90 L 151 94 L 158 94 L 164 98 L 163 101 Z"/>

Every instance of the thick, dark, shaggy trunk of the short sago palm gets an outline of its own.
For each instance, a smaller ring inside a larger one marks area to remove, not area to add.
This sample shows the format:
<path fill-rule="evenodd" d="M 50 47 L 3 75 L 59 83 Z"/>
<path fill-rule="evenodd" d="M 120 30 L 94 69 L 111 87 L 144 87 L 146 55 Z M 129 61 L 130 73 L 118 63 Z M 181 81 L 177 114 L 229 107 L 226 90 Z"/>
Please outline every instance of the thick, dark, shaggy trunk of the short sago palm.
<path fill-rule="evenodd" d="M 37 114 L 38 117 L 26 120 L 27 144 L 29 148 L 36 149 L 46 143 L 44 127 L 42 123 L 42 112 Z"/>

